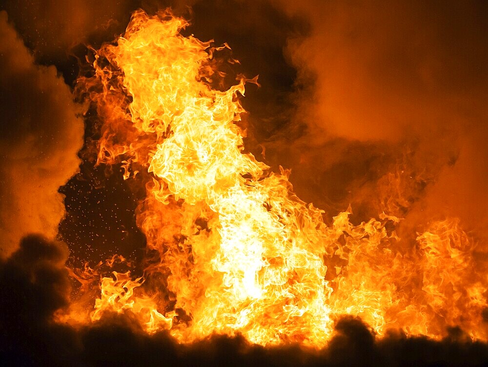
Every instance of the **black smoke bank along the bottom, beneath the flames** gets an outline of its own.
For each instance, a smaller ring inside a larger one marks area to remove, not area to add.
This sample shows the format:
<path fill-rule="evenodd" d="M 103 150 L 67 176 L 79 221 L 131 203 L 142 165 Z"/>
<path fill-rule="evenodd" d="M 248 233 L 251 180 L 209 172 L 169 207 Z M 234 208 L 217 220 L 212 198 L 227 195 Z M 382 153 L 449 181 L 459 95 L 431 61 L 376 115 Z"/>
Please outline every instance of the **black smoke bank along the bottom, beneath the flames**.
<path fill-rule="evenodd" d="M 178 345 L 165 332 L 144 334 L 130 314 L 71 328 L 53 323 L 69 303 L 66 244 L 32 235 L 0 262 L 0 364 L 7 366 L 484 366 L 488 346 L 452 329 L 440 342 L 392 333 L 378 341 L 360 320 L 343 318 L 322 350 L 262 347 L 212 336 Z"/>

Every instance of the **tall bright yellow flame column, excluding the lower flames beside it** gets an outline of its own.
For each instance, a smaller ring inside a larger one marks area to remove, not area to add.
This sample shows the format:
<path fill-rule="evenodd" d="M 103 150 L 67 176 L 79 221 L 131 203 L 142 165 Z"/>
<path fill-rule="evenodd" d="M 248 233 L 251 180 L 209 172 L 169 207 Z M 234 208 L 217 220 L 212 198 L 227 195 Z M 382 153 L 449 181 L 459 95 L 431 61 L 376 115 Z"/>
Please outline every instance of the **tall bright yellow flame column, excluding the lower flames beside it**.
<path fill-rule="evenodd" d="M 172 234 L 179 243 L 166 234 L 152 244 L 170 270 L 175 307 L 192 318 L 175 335 L 238 330 L 261 344 L 324 343 L 330 310 L 320 212 L 289 198 L 284 173 L 264 174 L 268 167 L 242 152 L 244 131 L 236 122 L 244 81 L 226 91 L 204 83 L 213 73 L 212 52 L 209 43 L 181 36 L 185 25 L 138 12 L 104 55 L 123 73 L 133 126 L 157 135 L 147 162 L 157 184 L 148 196 L 163 204 L 180 200 L 174 214 L 182 226 Z M 138 151 L 134 142 L 130 150 Z M 167 230 L 147 213 L 144 220 L 153 231 Z"/>

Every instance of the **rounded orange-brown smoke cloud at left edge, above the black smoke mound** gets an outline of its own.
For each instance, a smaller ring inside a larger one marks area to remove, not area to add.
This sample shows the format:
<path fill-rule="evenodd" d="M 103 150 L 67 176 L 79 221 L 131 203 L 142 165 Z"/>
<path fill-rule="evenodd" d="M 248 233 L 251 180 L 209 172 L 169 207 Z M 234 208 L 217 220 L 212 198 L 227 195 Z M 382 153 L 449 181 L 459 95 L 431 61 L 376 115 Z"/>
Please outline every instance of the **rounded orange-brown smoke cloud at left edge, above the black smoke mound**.
<path fill-rule="evenodd" d="M 61 185 L 80 163 L 83 123 L 54 66 L 34 64 L 0 13 L 0 237 L 1 257 L 21 237 L 53 238 L 64 214 Z"/>

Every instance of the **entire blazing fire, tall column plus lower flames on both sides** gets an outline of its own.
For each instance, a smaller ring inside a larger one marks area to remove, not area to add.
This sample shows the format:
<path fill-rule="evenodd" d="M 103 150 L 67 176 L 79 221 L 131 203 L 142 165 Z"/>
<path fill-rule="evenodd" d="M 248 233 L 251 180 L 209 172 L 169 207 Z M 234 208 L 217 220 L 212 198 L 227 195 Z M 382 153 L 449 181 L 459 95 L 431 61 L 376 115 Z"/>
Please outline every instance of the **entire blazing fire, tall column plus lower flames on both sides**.
<path fill-rule="evenodd" d="M 327 226 L 293 194 L 287 171 L 244 152 L 246 79 L 213 88 L 227 45 L 184 37 L 187 25 L 169 11 L 135 12 L 116 43 L 93 50 L 95 75 L 79 81 L 103 121 L 98 161 L 122 163 L 124 178 L 142 175 L 147 190 L 137 211 L 144 273 L 102 277 L 89 319 L 131 312 L 146 332 L 180 342 L 239 333 L 322 347 L 334 320 L 352 314 L 380 336 L 403 328 L 440 338 L 459 325 L 486 340 L 487 278 L 458 222 L 432 223 L 410 247 L 395 213 L 355 226 L 349 209 Z M 73 309 L 65 320 L 90 322 Z"/>

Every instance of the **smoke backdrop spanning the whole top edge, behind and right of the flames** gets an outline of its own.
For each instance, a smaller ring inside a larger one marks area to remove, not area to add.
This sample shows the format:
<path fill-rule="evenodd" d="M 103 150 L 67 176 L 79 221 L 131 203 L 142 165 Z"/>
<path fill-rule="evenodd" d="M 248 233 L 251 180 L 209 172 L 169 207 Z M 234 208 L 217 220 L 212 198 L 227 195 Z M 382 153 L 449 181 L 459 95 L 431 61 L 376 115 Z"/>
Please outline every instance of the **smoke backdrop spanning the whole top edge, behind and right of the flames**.
<path fill-rule="evenodd" d="M 386 176 L 407 165 L 402 185 L 411 195 L 399 200 L 409 204 L 395 214 L 411 213 L 414 227 L 426 211 L 459 216 L 481 237 L 488 204 L 481 184 L 488 74 L 482 1 L 4 6 L 36 58 L 61 67 L 68 80 L 76 75 L 63 61 L 72 46 L 113 39 L 139 6 L 148 12 L 172 6 L 191 17 L 197 37 L 229 43 L 244 74 L 260 75 L 262 87 L 250 86 L 243 101 L 251 112 L 246 147 L 259 158 L 265 148 L 275 169 L 290 168 L 305 201 L 329 218 L 351 204 L 352 219 L 367 220 L 385 210 Z"/>

